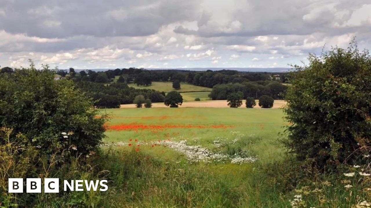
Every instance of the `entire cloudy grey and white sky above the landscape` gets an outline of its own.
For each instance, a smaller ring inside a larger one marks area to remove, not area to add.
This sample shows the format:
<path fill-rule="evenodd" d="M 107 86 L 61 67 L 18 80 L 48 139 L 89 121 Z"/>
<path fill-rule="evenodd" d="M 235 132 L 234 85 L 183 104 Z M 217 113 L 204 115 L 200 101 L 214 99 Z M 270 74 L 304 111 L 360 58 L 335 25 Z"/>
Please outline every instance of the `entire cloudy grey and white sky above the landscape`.
<path fill-rule="evenodd" d="M 370 36 L 370 0 L 0 1 L 1 67 L 288 67 Z"/>

